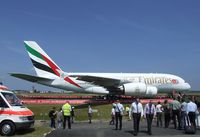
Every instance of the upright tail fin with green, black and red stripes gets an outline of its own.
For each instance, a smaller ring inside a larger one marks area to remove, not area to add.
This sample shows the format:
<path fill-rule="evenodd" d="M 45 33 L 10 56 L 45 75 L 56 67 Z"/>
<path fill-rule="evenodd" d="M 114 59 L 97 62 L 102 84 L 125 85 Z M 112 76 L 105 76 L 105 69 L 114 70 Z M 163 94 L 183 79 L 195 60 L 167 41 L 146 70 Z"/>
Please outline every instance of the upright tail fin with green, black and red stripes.
<path fill-rule="evenodd" d="M 60 77 L 62 70 L 35 41 L 24 41 L 24 44 L 37 76 L 45 78 Z"/>

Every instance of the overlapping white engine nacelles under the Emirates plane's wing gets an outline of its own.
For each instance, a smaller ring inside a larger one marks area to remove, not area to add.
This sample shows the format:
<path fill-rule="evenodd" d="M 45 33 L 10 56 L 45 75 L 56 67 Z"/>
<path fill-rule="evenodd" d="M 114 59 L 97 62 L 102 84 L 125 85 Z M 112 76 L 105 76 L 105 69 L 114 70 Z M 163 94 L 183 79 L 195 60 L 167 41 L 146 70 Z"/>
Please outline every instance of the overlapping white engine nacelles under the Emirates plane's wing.
<path fill-rule="evenodd" d="M 147 86 L 145 83 L 127 83 L 120 87 L 124 95 L 137 96 L 137 95 L 156 95 L 157 88 L 154 86 Z"/>

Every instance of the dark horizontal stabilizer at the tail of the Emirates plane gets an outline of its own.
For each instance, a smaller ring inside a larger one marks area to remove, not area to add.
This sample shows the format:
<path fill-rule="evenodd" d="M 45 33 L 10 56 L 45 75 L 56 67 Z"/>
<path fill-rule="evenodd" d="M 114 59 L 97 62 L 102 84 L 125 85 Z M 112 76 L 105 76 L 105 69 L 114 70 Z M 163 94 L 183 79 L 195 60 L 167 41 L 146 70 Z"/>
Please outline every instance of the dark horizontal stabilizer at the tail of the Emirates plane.
<path fill-rule="evenodd" d="M 37 76 L 32 76 L 32 75 L 27 75 L 27 74 L 20 74 L 20 73 L 9 73 L 11 76 L 20 78 L 23 80 L 27 80 L 30 82 L 38 82 L 38 81 L 52 81 L 53 79 L 48 79 L 48 78 L 43 78 L 43 77 L 37 77 Z"/>

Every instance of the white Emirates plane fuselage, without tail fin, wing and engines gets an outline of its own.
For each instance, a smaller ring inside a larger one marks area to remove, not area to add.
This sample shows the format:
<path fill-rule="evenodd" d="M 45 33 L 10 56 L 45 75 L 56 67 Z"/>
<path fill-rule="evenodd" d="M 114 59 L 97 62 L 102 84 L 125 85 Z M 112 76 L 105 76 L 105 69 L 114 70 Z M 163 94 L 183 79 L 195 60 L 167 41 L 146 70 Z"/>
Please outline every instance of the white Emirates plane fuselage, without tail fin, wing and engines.
<path fill-rule="evenodd" d="M 138 89 L 138 92 L 128 92 L 122 85 L 118 86 L 121 92 L 109 92 L 106 88 L 95 85 L 92 82 L 86 82 L 82 80 L 77 80 L 78 76 L 95 76 L 103 77 L 108 79 L 118 79 L 120 84 L 141 84 L 147 88 L 156 87 L 158 93 L 170 93 L 172 91 L 189 91 L 191 88 L 188 83 L 185 82 L 181 77 L 171 75 L 171 74 L 160 74 L 160 73 L 66 73 L 67 75 L 77 76 L 71 77 L 71 79 L 77 83 L 80 87 L 66 83 L 64 79 L 55 79 L 52 83 L 41 84 L 52 86 L 55 88 L 61 88 L 67 91 L 74 91 L 79 93 L 95 93 L 95 94 L 120 94 L 120 95 L 145 95 Z M 139 87 L 138 87 L 139 88 Z M 125 90 L 125 91 L 124 91 Z M 153 93 L 152 93 L 153 94 Z M 152 95 L 150 94 L 150 95 Z M 153 94 L 154 95 L 154 94 Z"/>

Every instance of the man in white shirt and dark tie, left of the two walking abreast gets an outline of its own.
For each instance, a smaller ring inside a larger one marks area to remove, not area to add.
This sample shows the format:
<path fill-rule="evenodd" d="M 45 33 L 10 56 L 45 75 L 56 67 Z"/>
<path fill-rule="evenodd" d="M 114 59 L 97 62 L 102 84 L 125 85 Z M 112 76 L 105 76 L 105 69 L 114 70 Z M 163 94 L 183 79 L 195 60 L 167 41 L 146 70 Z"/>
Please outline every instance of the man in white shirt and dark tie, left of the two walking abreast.
<path fill-rule="evenodd" d="M 137 136 L 140 126 L 140 119 L 143 116 L 143 106 L 137 98 L 130 106 L 129 117 L 133 117 L 134 136 Z"/>

